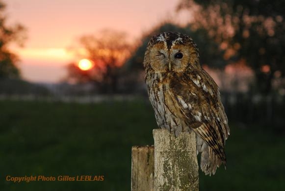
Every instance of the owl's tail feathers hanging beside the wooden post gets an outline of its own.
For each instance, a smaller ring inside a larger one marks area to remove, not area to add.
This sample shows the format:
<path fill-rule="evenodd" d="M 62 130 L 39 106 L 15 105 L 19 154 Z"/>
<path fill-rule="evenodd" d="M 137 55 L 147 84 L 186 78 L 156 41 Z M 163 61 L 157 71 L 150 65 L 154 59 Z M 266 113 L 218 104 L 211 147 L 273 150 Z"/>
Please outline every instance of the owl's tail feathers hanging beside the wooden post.
<path fill-rule="evenodd" d="M 197 155 L 201 153 L 201 170 L 205 172 L 205 174 L 215 174 L 217 167 L 221 164 L 225 165 L 226 161 L 221 160 L 218 155 L 214 153 L 214 151 L 206 144 L 206 142 L 196 135 L 196 143 L 197 143 Z"/>

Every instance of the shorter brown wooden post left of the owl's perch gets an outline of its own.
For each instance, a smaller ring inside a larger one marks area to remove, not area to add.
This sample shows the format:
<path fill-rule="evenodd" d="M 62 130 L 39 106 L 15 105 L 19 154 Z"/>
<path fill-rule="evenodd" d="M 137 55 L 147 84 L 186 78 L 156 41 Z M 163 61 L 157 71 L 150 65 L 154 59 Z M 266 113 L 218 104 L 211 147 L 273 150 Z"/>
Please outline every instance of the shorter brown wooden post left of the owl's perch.
<path fill-rule="evenodd" d="M 131 191 L 154 191 L 154 158 L 154 145 L 131 148 Z"/>

